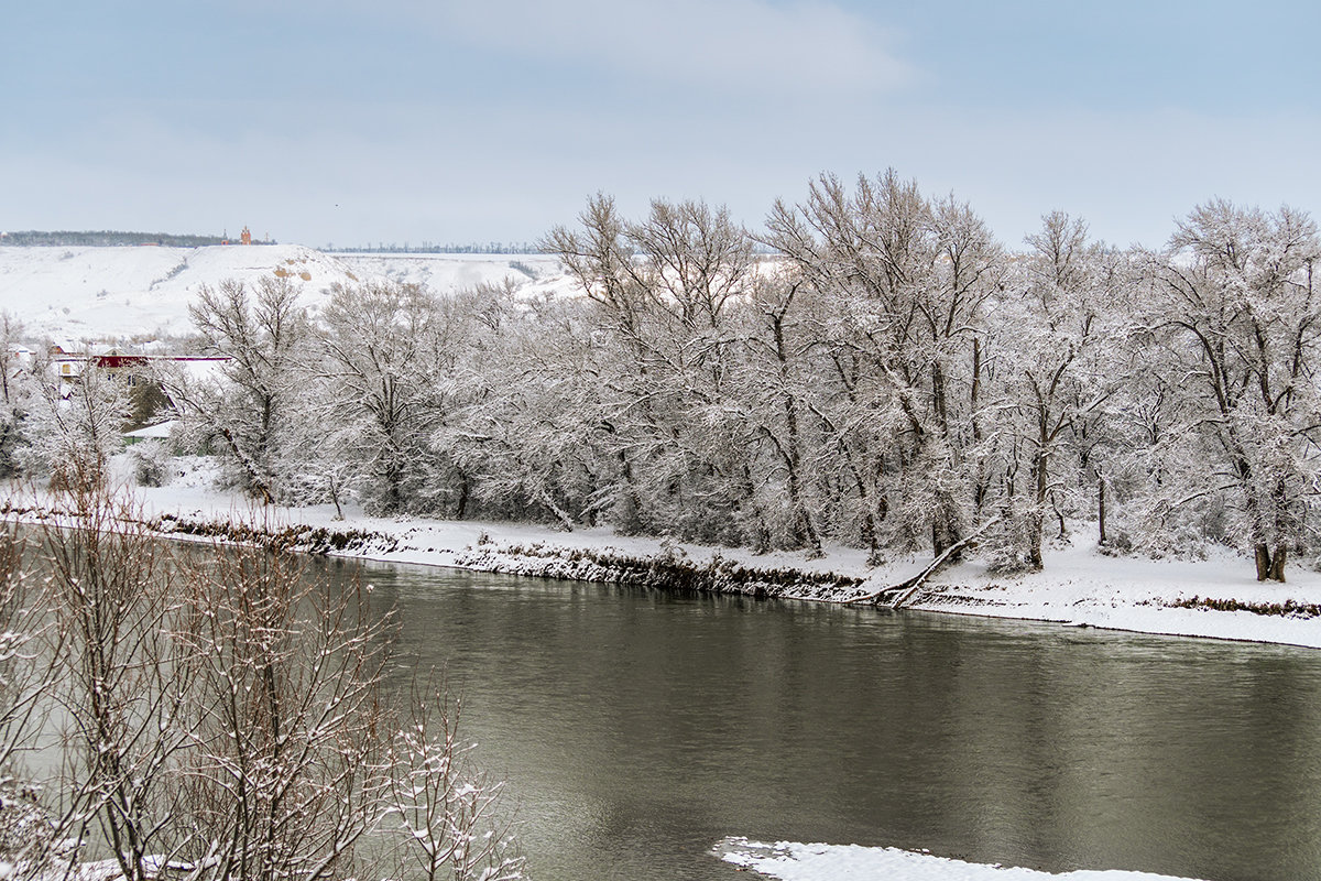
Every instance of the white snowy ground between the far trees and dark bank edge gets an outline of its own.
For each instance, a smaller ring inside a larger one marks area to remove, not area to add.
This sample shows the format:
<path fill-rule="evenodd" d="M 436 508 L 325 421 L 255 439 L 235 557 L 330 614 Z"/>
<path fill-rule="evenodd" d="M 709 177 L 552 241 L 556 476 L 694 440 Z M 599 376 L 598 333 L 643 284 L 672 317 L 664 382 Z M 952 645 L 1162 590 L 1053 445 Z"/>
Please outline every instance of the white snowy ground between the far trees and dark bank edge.
<path fill-rule="evenodd" d="M 213 489 L 214 470 L 209 460 L 176 460 L 176 464 L 168 486 L 133 490 L 147 514 L 172 514 L 193 520 L 256 520 L 275 528 L 297 524 L 341 532 L 357 530 L 379 535 L 382 540 L 358 548 L 354 556 L 399 563 L 592 577 L 590 568 L 568 564 L 575 551 L 588 551 L 678 560 L 694 567 L 720 560 L 752 569 L 832 572 L 863 580 L 855 588 L 808 585 L 783 594 L 827 601 L 847 601 L 897 584 L 925 563 L 918 556 L 869 567 L 865 555 L 856 548 L 827 548 L 820 559 L 808 559 L 802 552 L 754 555 L 667 539 L 625 538 L 606 528 L 565 532 L 531 524 L 371 518 L 353 507 L 345 509 L 345 520 L 334 519 L 332 506 L 259 511 L 248 501 Z M 1229 552 L 1209 560 L 1106 556 L 1096 551 L 1094 542 L 1079 535 L 1071 547 L 1049 549 L 1045 569 L 1037 573 L 997 576 L 976 561 L 951 567 L 931 579 L 930 589 L 919 594 L 911 608 L 1321 649 L 1321 617 L 1170 605 L 1192 597 L 1242 604 L 1283 604 L 1287 600 L 1300 605 L 1321 604 L 1321 573 L 1297 561 L 1289 579 L 1283 585 L 1259 584 L 1254 579 L 1252 561 Z"/>

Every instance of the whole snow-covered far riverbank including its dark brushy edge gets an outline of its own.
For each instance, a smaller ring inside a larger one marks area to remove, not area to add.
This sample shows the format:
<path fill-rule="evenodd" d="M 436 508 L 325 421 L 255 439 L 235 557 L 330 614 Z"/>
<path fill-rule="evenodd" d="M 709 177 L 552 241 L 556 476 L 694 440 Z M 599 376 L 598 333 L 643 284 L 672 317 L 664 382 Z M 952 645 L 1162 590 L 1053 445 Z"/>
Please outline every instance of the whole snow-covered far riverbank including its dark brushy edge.
<path fill-rule="evenodd" d="M 169 486 L 132 491 L 144 515 L 178 538 L 248 523 L 316 552 L 514 575 L 678 582 L 690 589 L 847 602 L 898 584 L 926 563 L 913 556 L 872 567 L 856 548 L 831 547 L 816 559 L 803 552 L 754 555 L 618 536 L 606 528 L 567 532 L 528 524 L 373 518 L 349 507 L 342 520 L 332 506 L 259 510 L 214 490 L 205 464 L 178 469 Z M 950 567 L 909 608 L 1321 647 L 1321 616 L 1314 608 L 1321 605 L 1321 573 L 1300 564 L 1289 577 L 1289 584 L 1259 584 L 1251 560 L 1227 552 L 1207 560 L 1118 557 L 1079 538 L 1073 547 L 1052 549 L 1042 572 L 1003 576 L 976 561 Z M 1275 608 L 1295 610 L 1264 614 Z"/>

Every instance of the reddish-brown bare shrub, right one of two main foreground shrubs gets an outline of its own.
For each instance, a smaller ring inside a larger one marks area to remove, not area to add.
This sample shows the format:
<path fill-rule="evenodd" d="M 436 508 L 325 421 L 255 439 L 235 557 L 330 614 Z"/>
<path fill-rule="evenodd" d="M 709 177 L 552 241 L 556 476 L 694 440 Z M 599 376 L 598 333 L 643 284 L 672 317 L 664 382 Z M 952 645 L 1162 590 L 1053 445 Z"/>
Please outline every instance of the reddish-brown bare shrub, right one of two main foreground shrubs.
<path fill-rule="evenodd" d="M 373 828 L 388 616 L 289 553 L 215 547 L 186 588 L 181 836 L 215 878 L 342 876 Z"/>

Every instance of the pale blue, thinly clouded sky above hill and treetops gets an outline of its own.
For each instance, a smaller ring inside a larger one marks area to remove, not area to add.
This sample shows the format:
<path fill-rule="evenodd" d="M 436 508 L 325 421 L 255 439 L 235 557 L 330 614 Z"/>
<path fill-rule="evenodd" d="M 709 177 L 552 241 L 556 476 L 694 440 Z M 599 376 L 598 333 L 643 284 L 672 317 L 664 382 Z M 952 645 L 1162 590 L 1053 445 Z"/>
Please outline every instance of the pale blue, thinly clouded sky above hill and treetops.
<path fill-rule="evenodd" d="M 757 230 L 894 168 L 1015 247 L 1321 211 L 1321 4 L 0 0 L 0 230 L 531 242 L 596 193 Z"/>

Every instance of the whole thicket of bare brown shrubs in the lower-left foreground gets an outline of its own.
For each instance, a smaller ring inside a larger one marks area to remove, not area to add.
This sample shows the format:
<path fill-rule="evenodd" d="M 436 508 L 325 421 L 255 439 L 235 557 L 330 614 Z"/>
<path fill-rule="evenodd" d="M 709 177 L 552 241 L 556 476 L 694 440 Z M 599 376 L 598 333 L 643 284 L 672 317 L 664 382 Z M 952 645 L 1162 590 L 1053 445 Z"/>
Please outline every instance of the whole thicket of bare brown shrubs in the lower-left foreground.
<path fill-rule="evenodd" d="M 96 482 L 58 502 L 0 532 L 5 877 L 524 877 L 458 701 L 387 687 L 366 590 L 161 542 Z"/>

